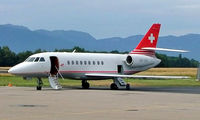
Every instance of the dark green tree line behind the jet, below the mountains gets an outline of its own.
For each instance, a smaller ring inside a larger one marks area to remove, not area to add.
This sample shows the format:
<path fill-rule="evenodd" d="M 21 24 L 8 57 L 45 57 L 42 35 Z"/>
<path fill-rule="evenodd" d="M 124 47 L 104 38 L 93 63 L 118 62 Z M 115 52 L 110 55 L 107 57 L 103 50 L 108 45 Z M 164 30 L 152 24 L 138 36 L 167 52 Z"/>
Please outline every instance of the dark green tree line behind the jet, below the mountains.
<path fill-rule="evenodd" d="M 118 53 L 118 54 L 126 54 L 129 52 L 119 52 L 117 50 L 114 51 L 87 51 L 84 48 L 80 48 L 75 46 L 72 49 L 55 49 L 54 52 L 72 52 L 76 50 L 76 52 L 93 52 L 93 53 Z M 23 62 L 30 55 L 35 53 L 46 52 L 45 50 L 37 49 L 35 51 L 24 51 L 20 53 L 15 53 L 9 49 L 7 46 L 0 47 L 0 66 L 13 66 L 20 62 Z M 199 62 L 194 59 L 188 59 L 186 57 L 182 57 L 179 54 L 178 57 L 167 56 L 165 54 L 156 53 L 157 58 L 161 59 L 161 63 L 157 67 L 197 67 Z"/>

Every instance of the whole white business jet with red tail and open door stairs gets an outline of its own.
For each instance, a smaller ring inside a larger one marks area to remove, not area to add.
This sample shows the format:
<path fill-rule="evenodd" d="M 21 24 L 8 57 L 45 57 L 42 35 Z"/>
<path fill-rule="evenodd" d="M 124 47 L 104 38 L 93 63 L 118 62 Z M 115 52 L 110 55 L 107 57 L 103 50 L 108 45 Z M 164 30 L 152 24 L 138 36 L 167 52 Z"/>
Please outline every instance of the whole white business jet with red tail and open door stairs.
<path fill-rule="evenodd" d="M 58 77 L 82 80 L 82 88 L 89 88 L 88 80 L 113 79 L 111 89 L 130 85 L 122 78 L 185 78 L 184 76 L 132 75 L 158 65 L 155 51 L 187 52 L 184 50 L 156 48 L 160 24 L 153 24 L 138 46 L 129 54 L 45 52 L 34 54 L 8 72 L 23 77 L 37 77 L 37 90 L 41 90 L 41 78 L 48 77 L 53 89 L 61 89 Z"/>

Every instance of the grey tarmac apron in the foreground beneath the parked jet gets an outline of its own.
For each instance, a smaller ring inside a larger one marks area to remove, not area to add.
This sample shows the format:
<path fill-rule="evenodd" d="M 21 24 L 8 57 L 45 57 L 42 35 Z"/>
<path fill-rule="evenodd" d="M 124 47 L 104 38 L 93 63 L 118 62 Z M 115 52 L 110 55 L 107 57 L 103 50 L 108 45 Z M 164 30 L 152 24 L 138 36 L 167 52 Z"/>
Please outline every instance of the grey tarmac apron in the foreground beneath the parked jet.
<path fill-rule="evenodd" d="M 199 87 L 0 87 L 0 120 L 199 120 Z"/>

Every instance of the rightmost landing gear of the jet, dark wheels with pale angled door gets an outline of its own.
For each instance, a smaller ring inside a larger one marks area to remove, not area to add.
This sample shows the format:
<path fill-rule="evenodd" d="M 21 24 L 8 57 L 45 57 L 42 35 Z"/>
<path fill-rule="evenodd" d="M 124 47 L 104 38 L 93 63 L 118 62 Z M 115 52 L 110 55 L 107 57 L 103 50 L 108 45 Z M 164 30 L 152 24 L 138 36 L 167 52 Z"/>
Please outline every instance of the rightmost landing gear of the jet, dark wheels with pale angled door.
<path fill-rule="evenodd" d="M 125 88 L 126 90 L 130 90 L 130 84 L 126 83 L 121 78 L 114 78 L 113 83 L 110 85 L 111 90 L 118 90 L 119 88 Z"/>

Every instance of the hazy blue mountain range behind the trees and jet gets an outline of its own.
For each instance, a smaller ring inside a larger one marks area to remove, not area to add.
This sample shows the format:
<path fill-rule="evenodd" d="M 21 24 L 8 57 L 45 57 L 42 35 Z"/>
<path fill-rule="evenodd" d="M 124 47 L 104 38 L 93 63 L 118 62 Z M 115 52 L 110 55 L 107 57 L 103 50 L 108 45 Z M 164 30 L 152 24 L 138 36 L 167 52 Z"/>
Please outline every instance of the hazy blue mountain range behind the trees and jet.
<path fill-rule="evenodd" d="M 54 49 L 73 48 L 74 46 L 96 51 L 131 51 L 142 37 L 143 35 L 134 35 L 126 38 L 113 37 L 97 40 L 89 33 L 80 31 L 32 31 L 24 26 L 0 25 L 0 46 L 9 46 L 15 52 L 36 50 L 39 48 L 52 51 Z M 159 37 L 157 46 L 162 48 L 186 49 L 190 53 L 184 53 L 183 56 L 200 60 L 198 56 L 200 51 L 200 34 L 162 36 Z M 179 53 L 165 54 L 178 55 Z"/>

